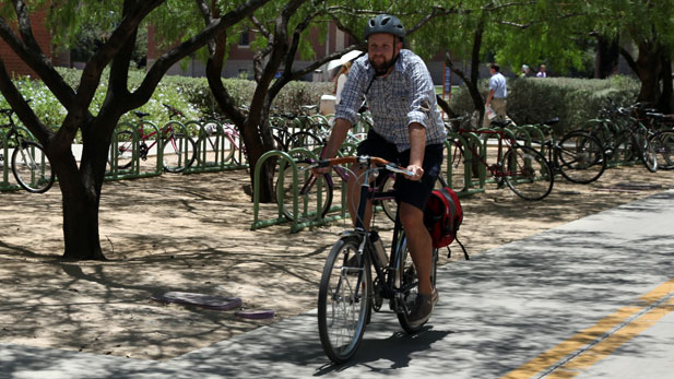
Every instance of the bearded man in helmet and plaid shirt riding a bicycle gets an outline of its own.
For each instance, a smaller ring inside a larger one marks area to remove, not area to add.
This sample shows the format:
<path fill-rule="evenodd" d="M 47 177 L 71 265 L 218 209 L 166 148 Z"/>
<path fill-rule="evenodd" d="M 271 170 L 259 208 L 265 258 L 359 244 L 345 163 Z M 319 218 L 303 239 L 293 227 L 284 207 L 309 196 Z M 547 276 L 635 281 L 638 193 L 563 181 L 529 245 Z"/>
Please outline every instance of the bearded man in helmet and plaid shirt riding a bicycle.
<path fill-rule="evenodd" d="M 335 123 L 323 150 L 322 158 L 336 155 L 347 131 L 357 122 L 358 109 L 366 100 L 373 114 L 374 126 L 367 139 L 358 145 L 358 155 L 379 156 L 406 167 L 414 176 L 395 182 L 400 203 L 400 221 L 407 236 L 410 253 L 416 267 L 418 296 L 410 317 L 413 327 L 423 324 L 438 300 L 430 284 L 433 246 L 424 225 L 424 209 L 440 173 L 442 146 L 447 132 L 437 109 L 435 86 L 424 61 L 403 49 L 405 28 L 400 20 L 381 14 L 370 19 L 365 27 L 367 57 L 353 62 L 335 107 Z M 329 168 L 315 168 L 323 174 Z M 363 173 L 348 179 L 348 212 L 356 215 Z M 371 204 L 365 225 L 371 218 Z"/>

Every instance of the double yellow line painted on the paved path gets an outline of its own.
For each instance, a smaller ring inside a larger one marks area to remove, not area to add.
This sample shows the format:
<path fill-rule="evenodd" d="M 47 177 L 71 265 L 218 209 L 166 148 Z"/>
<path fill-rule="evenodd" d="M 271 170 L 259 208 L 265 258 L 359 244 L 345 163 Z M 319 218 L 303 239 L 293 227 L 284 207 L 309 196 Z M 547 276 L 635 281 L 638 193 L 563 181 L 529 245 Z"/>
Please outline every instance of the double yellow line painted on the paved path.
<path fill-rule="evenodd" d="M 531 359 L 519 368 L 508 372 L 502 379 L 524 379 L 532 378 L 552 366 L 559 364 L 565 357 L 579 352 L 569 362 L 561 363 L 548 376 L 549 378 L 571 378 L 580 374 L 581 369 L 588 368 L 600 359 L 613 353 L 618 346 L 634 339 L 639 333 L 652 327 L 663 316 L 674 310 L 674 299 L 666 304 L 653 307 L 657 301 L 662 300 L 674 293 L 674 277 L 659 285 L 653 291 L 639 297 L 640 306 L 628 306 L 618 309 L 615 313 L 607 316 L 594 325 L 584 329 L 570 339 L 559 343 L 555 347 Z M 652 309 L 647 310 L 649 307 Z M 643 312 L 643 315 L 640 315 Z M 628 321 L 628 319 L 635 318 Z M 627 322 L 627 323 L 626 323 Z M 624 327 L 620 324 L 626 323 Z M 613 329 L 616 331 L 610 333 Z M 592 345 L 594 343 L 594 345 Z M 590 345 L 588 347 L 588 345 Z M 584 351 L 582 348 L 588 347 Z"/>

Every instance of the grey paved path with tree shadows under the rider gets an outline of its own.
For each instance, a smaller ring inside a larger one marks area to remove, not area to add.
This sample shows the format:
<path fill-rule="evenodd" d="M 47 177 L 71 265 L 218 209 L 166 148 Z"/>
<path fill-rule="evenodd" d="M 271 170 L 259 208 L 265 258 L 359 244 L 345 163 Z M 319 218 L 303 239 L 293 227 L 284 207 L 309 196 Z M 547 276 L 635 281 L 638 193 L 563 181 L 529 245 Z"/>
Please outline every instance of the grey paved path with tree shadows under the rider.
<path fill-rule="evenodd" d="M 309 312 L 168 362 L 0 344 L 0 377 L 672 378 L 673 258 L 670 190 L 442 268 L 423 332 L 377 313 L 343 366 Z"/>

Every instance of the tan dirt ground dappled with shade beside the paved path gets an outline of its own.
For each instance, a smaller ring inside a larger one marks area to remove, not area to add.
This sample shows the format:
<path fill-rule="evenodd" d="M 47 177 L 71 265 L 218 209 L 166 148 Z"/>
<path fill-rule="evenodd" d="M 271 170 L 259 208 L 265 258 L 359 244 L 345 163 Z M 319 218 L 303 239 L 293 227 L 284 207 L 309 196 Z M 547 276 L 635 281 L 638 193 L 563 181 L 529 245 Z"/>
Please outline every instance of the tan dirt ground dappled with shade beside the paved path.
<path fill-rule="evenodd" d="M 608 169 L 588 186 L 558 177 L 540 202 L 487 188 L 462 199 L 460 237 L 478 254 L 674 188 L 673 179 L 674 173 L 640 166 Z M 250 230 L 248 185 L 245 170 L 106 183 L 99 216 L 105 262 L 59 259 L 58 185 L 45 194 L 0 193 L 0 342 L 168 359 L 315 308 L 324 258 L 347 224 L 296 234 L 287 224 Z M 265 205 L 262 216 L 274 212 Z M 382 217 L 379 226 L 390 233 Z M 245 309 L 276 316 L 250 321 L 234 310 L 151 299 L 172 291 L 236 296 Z"/>

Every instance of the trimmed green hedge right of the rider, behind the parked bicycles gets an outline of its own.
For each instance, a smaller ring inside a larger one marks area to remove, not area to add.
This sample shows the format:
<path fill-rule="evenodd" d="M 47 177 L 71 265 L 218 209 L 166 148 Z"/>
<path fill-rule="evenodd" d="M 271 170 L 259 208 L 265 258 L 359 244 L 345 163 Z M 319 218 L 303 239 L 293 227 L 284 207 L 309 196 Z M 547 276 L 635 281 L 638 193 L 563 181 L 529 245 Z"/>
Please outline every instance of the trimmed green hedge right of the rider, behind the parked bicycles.
<path fill-rule="evenodd" d="M 482 80 L 480 88 L 486 97 L 488 82 Z M 610 98 L 619 105 L 632 104 L 639 93 L 639 82 L 631 78 L 614 76 L 595 79 L 508 79 L 508 116 L 518 125 L 539 123 L 559 117 L 556 131 L 563 133 L 579 129 L 598 117 Z M 473 110 L 468 90 L 456 91 L 452 109 L 459 114 Z"/>

